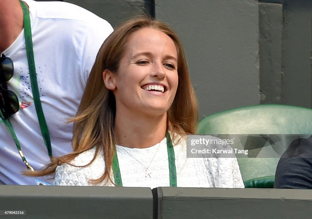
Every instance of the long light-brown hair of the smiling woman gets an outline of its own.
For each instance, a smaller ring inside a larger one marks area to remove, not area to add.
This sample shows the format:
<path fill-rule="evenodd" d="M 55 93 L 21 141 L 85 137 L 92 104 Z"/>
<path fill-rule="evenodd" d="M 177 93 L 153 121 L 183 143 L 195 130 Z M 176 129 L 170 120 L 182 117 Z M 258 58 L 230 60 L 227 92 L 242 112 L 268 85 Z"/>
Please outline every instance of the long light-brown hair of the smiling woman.
<path fill-rule="evenodd" d="M 147 17 L 134 18 L 116 28 L 104 41 L 97 54 L 77 114 L 71 119 L 74 122 L 73 152 L 53 159 L 42 171 L 28 172 L 27 175 L 52 174 L 58 165 L 70 164 L 70 161 L 77 155 L 96 147 L 95 156 L 89 164 L 95 160 L 99 151 L 103 150 L 106 168 L 99 179 L 91 180 L 91 182 L 100 183 L 105 179 L 112 181 L 110 172 L 115 155 L 113 130 L 116 102 L 112 91 L 104 85 L 102 73 L 105 69 L 117 73 L 129 36 L 143 28 L 162 31 L 173 40 L 178 50 L 178 88 L 173 104 L 167 112 L 167 130 L 180 136 L 195 133 L 198 123 L 197 99 L 189 76 L 184 50 L 178 37 L 161 21 Z"/>

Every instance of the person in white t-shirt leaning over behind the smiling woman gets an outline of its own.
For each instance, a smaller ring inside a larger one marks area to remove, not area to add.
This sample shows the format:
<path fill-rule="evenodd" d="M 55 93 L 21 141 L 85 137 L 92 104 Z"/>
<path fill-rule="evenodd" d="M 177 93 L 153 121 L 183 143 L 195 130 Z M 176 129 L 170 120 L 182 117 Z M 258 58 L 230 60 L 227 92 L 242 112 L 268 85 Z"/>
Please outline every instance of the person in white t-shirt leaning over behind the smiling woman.
<path fill-rule="evenodd" d="M 40 102 L 52 153 L 57 157 L 72 151 L 72 124 L 66 122 L 76 114 L 97 51 L 113 28 L 95 14 L 70 3 L 24 2 L 29 8 Z M 34 104 L 23 27 L 19 0 L 1 0 L 0 56 L 2 60 L 12 59 L 14 74 L 8 82 L 0 81 L 0 92 L 7 88 L 17 95 L 19 111 L 8 119 L 27 162 L 39 170 L 50 158 Z M 3 68 L 0 66 L 0 75 L 4 74 Z M 0 184 L 51 182 L 22 175 L 21 171 L 26 169 L 17 145 L 0 119 Z"/>

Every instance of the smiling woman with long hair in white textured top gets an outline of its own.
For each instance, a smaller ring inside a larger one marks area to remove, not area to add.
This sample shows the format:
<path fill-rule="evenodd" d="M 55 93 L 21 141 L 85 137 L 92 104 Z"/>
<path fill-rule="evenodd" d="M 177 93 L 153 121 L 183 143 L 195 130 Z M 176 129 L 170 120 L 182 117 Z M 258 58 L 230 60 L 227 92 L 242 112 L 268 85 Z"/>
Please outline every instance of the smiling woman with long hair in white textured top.
<path fill-rule="evenodd" d="M 131 19 L 96 57 L 74 122 L 74 152 L 33 176 L 55 185 L 243 187 L 236 158 L 186 156 L 198 122 L 183 47 L 164 23 Z"/>

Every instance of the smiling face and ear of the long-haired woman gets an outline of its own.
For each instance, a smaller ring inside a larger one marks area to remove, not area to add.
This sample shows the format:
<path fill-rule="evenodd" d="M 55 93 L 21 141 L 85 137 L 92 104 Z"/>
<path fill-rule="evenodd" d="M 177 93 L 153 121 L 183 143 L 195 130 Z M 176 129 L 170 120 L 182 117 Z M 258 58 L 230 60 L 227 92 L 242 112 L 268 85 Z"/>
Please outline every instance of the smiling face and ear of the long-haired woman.
<path fill-rule="evenodd" d="M 116 125 L 125 115 L 146 115 L 157 116 L 155 125 L 166 127 L 166 114 L 178 88 L 178 52 L 173 40 L 146 27 L 129 36 L 125 48 L 118 71 L 103 73 L 106 88 L 115 96 Z"/>

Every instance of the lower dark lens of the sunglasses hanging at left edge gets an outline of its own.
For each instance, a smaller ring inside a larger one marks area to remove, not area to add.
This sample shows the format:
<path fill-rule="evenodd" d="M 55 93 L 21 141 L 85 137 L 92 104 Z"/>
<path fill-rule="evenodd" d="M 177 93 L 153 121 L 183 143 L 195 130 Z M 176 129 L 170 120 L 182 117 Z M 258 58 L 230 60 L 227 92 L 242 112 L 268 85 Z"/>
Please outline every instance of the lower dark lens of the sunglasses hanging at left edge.
<path fill-rule="evenodd" d="M 16 113 L 19 109 L 18 98 L 10 90 L 2 90 L 0 93 L 0 106 L 3 115 L 9 116 Z"/>

